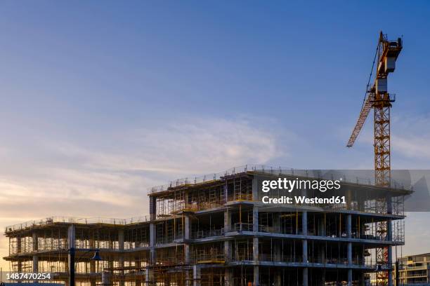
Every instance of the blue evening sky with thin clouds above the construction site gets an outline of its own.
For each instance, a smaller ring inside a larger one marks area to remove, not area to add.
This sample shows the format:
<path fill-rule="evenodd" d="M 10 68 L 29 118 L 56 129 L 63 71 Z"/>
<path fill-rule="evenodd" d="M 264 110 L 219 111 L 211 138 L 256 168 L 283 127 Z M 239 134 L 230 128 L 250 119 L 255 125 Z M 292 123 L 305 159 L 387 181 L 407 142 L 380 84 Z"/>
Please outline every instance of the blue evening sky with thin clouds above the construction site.
<path fill-rule="evenodd" d="M 429 12 L 428 1 L 2 1 L 0 225 L 145 214 L 149 186 L 246 163 L 373 168 L 371 121 L 345 144 L 381 29 L 404 41 L 389 78 L 393 168 L 429 169 Z"/>

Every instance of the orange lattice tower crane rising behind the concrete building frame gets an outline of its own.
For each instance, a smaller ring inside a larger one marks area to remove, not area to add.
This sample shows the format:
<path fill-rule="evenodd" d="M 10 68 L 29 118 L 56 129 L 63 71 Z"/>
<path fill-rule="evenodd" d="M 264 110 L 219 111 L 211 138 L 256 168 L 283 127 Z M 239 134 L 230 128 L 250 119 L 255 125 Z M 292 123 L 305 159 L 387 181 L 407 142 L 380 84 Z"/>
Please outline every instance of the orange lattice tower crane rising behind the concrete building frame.
<path fill-rule="evenodd" d="M 372 71 L 367 81 L 365 98 L 358 116 L 358 121 L 349 137 L 346 147 L 353 147 L 354 142 L 363 128 L 370 109 L 374 111 L 374 182 L 377 186 L 391 186 L 391 147 L 390 147 L 390 109 L 396 100 L 396 95 L 388 93 L 388 75 L 396 69 L 396 60 L 402 50 L 402 39 L 389 41 L 386 34 L 379 33 L 379 41 L 374 55 Z M 375 67 L 376 61 L 376 69 Z M 372 73 L 375 69 L 374 83 L 370 85 Z M 384 209 L 385 200 L 377 200 L 376 207 Z M 377 210 L 379 212 L 379 210 Z M 391 233 L 391 220 L 377 223 L 377 233 L 386 236 Z M 377 248 L 375 259 L 378 265 L 391 268 L 391 247 Z M 377 273 L 377 285 L 391 285 L 391 271 L 380 271 Z"/>

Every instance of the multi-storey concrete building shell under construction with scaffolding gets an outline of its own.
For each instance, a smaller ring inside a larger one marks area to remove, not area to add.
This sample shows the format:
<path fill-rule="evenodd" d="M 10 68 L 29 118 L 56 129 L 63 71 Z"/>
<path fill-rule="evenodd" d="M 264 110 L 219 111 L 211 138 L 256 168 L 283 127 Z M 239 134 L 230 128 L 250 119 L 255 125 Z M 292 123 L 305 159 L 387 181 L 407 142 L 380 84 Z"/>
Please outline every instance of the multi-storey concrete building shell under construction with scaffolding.
<path fill-rule="evenodd" d="M 261 201 L 263 178 L 318 176 L 245 166 L 177 180 L 150 189 L 148 217 L 8 226 L 5 259 L 13 272 L 52 273 L 67 284 L 68 249 L 79 248 L 78 286 L 99 285 L 102 273 L 116 286 L 392 285 L 391 249 L 404 244 L 410 191 L 344 178 L 335 193 L 344 204 L 271 209 Z M 84 251 L 94 248 L 101 261 Z"/>

